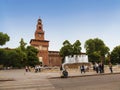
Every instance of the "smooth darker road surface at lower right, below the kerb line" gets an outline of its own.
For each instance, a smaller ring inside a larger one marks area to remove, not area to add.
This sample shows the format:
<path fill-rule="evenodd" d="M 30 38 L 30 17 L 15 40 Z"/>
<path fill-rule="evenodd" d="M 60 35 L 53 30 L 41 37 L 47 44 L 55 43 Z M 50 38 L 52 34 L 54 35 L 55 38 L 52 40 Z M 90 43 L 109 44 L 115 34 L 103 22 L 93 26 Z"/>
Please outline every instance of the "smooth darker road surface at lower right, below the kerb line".
<path fill-rule="evenodd" d="M 120 90 L 120 74 L 50 80 L 56 90 Z"/>

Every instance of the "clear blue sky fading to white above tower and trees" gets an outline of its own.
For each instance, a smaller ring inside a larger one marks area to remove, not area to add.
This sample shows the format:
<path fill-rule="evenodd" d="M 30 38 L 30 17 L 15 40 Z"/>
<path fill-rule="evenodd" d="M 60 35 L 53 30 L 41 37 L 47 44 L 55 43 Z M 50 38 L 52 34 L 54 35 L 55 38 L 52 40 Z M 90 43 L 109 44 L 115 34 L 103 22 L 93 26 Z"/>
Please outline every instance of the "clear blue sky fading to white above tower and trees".
<path fill-rule="evenodd" d="M 21 38 L 29 45 L 38 18 L 42 19 L 49 50 L 80 40 L 82 52 L 88 39 L 99 38 L 112 50 L 120 45 L 120 0 L 0 0 L 0 32 L 16 48 Z"/>

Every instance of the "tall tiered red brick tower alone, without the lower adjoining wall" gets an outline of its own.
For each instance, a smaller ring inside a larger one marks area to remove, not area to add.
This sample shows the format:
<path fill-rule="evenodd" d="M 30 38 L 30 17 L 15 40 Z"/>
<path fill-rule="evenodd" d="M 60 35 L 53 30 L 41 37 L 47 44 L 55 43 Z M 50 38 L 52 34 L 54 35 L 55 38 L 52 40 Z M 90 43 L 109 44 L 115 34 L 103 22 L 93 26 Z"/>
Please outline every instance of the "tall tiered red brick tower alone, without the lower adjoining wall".
<path fill-rule="evenodd" d="M 42 20 L 38 19 L 35 31 L 35 39 L 31 39 L 30 44 L 39 50 L 38 58 L 43 65 L 49 65 L 48 47 L 49 41 L 44 40 Z"/>

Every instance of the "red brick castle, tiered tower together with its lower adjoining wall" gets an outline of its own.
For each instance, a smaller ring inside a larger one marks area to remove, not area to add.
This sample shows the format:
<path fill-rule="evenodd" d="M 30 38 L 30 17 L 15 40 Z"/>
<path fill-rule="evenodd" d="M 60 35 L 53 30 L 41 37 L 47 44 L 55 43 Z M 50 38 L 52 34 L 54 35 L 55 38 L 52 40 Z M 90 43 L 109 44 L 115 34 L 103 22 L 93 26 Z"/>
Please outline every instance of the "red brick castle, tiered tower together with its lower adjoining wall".
<path fill-rule="evenodd" d="M 31 46 L 39 50 L 38 58 L 43 66 L 60 66 L 62 59 L 59 51 L 48 51 L 49 41 L 45 40 L 45 32 L 43 31 L 42 20 L 38 19 L 35 31 L 35 39 L 30 40 Z"/>

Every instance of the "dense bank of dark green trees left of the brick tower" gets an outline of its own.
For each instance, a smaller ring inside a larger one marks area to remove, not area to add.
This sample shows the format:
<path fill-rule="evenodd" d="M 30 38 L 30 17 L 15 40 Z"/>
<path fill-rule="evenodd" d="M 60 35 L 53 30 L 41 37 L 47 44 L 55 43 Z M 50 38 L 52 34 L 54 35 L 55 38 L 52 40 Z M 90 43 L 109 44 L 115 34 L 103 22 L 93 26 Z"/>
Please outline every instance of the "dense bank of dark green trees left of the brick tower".
<path fill-rule="evenodd" d="M 18 68 L 39 64 L 38 50 L 32 46 L 26 48 L 25 45 L 26 43 L 21 39 L 20 46 L 16 49 L 0 49 L 0 64 Z"/>

